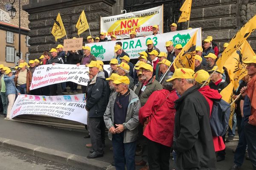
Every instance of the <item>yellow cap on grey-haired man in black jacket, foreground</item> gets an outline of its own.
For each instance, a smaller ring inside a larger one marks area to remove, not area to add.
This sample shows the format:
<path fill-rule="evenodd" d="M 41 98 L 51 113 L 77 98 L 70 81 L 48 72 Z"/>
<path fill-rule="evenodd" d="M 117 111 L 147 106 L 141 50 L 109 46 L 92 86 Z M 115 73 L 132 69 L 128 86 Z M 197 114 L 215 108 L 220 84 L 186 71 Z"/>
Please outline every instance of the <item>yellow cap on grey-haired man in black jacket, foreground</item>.
<path fill-rule="evenodd" d="M 177 68 L 172 75 L 172 78 L 166 80 L 166 82 L 172 81 L 174 79 L 193 79 L 195 72 L 190 68 Z"/>

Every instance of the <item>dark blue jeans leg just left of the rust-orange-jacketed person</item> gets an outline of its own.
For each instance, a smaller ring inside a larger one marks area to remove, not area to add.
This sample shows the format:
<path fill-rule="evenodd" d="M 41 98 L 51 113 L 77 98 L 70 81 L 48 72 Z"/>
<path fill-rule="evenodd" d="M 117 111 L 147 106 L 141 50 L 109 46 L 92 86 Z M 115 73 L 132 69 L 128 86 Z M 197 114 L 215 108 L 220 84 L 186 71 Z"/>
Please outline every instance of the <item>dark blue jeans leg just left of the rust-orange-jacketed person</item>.
<path fill-rule="evenodd" d="M 244 118 L 242 118 L 241 128 L 239 132 L 239 142 L 236 147 L 236 151 L 234 155 L 234 163 L 239 167 L 241 167 L 244 162 L 246 147 L 247 147 L 247 142 L 246 142 L 245 133 L 244 133 Z"/>

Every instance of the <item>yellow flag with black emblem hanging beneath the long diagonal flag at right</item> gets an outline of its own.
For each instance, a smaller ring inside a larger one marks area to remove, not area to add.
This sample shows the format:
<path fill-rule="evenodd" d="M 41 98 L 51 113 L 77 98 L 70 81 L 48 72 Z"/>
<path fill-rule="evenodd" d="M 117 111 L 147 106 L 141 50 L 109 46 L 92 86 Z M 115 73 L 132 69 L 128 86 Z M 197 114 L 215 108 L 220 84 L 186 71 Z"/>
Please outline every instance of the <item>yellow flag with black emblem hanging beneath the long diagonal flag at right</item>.
<path fill-rule="evenodd" d="M 234 89 L 239 87 L 239 80 L 247 75 L 247 70 L 245 69 L 247 65 L 243 61 L 250 60 L 253 56 L 255 56 L 255 53 L 245 40 L 225 62 L 224 67 L 227 69 L 230 79 L 234 80 Z"/>

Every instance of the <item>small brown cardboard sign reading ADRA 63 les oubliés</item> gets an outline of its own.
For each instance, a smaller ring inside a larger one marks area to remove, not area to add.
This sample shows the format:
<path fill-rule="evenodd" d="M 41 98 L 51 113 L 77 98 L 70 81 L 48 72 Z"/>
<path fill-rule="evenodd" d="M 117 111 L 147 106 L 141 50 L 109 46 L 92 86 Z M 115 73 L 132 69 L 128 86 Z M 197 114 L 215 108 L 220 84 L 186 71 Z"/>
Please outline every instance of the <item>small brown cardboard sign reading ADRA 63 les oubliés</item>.
<path fill-rule="evenodd" d="M 64 39 L 63 50 L 81 50 L 83 46 L 83 38 Z"/>

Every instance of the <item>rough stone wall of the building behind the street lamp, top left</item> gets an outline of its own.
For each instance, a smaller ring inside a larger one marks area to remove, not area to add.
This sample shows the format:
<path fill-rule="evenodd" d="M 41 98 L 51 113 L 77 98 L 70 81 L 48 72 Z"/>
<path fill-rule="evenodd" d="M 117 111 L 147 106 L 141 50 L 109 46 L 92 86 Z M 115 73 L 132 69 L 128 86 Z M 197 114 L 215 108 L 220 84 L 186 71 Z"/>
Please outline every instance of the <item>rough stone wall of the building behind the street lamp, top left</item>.
<path fill-rule="evenodd" d="M 13 2 L 13 0 L 11 0 Z M 0 8 L 6 11 L 5 4 L 9 3 L 9 0 L 0 0 Z M 23 5 L 29 4 L 29 0 L 20 0 L 20 26 L 24 28 L 29 28 L 29 14 L 22 10 Z M 11 20 L 14 25 L 19 25 L 19 1 L 16 0 L 13 6 L 16 8 L 17 13 L 15 17 Z"/>

